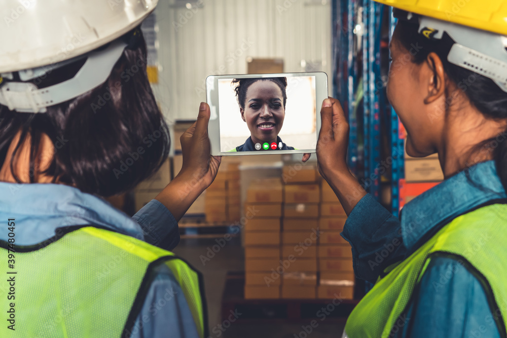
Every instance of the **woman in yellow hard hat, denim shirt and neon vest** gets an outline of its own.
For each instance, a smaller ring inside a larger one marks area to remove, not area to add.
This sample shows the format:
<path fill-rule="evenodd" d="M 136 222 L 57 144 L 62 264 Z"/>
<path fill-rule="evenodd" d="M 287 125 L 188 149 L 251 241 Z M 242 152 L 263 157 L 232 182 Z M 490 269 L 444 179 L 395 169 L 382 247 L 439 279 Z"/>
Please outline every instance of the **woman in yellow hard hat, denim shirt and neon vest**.
<path fill-rule="evenodd" d="M 445 180 L 394 217 L 350 173 L 346 117 L 324 100 L 318 168 L 348 215 L 354 272 L 375 283 L 343 336 L 506 336 L 507 7 L 379 2 L 398 8 L 387 96 L 407 154 L 438 153 Z"/>

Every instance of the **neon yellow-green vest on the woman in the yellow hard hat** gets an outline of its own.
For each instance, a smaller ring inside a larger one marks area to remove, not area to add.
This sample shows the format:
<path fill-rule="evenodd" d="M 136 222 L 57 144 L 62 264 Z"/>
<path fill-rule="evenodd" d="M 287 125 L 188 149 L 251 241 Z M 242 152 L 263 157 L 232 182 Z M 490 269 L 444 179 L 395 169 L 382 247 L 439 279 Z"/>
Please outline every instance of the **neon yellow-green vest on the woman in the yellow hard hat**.
<path fill-rule="evenodd" d="M 456 217 L 377 281 L 350 314 L 346 334 L 350 338 L 394 336 L 409 323 L 403 312 L 431 257 L 452 254 L 484 277 L 493 317 L 498 318 L 500 336 L 505 336 L 506 242 L 507 205 L 489 205 Z"/>

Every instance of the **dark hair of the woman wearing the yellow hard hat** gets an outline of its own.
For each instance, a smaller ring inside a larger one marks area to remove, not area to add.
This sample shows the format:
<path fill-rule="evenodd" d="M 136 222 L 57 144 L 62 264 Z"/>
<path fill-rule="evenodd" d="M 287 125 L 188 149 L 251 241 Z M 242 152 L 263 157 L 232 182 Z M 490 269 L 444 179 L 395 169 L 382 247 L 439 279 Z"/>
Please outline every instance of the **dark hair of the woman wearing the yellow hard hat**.
<path fill-rule="evenodd" d="M 397 10 L 399 11 L 399 10 Z M 399 11 L 402 13 L 402 11 Z M 452 64 L 447 60 L 452 41 L 447 33 L 444 33 L 442 40 L 430 40 L 418 33 L 419 25 L 406 20 L 398 20 L 395 37 L 407 50 L 413 50 L 412 61 L 422 63 L 429 53 L 436 53 L 444 65 L 444 70 L 451 81 L 457 84 L 458 88 L 470 100 L 479 111 L 486 117 L 501 120 L 507 119 L 507 92 L 504 92 L 495 82 L 472 70 L 465 69 Z M 446 93 L 449 95 L 449 93 Z M 451 103 L 446 100 L 446 109 Z M 505 132 L 504 132 L 505 133 Z M 494 138 L 485 140 L 478 144 L 478 148 L 488 146 Z M 498 176 L 505 190 L 507 190 L 507 140 L 497 142 L 494 150 L 494 159 Z"/>

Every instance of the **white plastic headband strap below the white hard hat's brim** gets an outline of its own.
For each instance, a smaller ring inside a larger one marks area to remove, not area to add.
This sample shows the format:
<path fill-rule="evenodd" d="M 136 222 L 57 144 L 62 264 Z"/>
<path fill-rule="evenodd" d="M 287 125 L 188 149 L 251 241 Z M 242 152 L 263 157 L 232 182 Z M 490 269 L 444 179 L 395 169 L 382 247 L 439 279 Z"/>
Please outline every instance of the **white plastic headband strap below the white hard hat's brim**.
<path fill-rule="evenodd" d="M 19 112 L 46 112 L 46 107 L 78 97 L 103 84 L 111 74 L 127 44 L 115 40 L 105 49 L 92 51 L 76 76 L 59 84 L 38 89 L 28 82 L 5 81 L 0 87 L 0 104 Z M 63 61 L 62 63 L 68 63 Z M 61 66 L 61 65 L 59 65 Z M 46 74 L 51 66 L 38 67 L 20 72 L 21 80 L 31 80 Z M 1 74 L 13 79 L 12 73 Z"/>

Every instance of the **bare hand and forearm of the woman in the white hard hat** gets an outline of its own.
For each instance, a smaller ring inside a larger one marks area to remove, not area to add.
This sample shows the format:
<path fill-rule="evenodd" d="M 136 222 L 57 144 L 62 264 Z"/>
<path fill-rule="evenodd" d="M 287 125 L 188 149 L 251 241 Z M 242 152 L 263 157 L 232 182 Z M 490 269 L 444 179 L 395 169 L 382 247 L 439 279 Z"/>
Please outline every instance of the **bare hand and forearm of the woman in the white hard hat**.
<path fill-rule="evenodd" d="M 155 197 L 178 221 L 215 179 L 222 161 L 221 156 L 210 155 L 209 114 L 209 106 L 201 102 L 197 121 L 180 137 L 183 152 L 182 170 Z"/>

